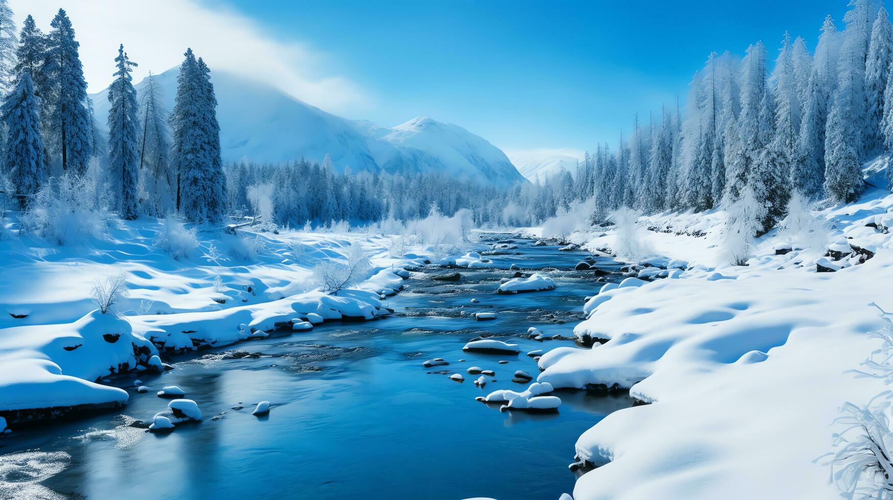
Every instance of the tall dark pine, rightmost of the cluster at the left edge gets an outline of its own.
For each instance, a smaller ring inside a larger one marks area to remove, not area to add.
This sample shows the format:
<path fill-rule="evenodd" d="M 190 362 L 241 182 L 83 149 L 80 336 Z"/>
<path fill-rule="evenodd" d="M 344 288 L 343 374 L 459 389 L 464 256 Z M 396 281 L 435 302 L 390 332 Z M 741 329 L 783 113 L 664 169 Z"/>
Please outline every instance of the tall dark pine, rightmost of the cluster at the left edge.
<path fill-rule="evenodd" d="M 46 36 L 44 71 L 47 88 L 45 100 L 49 112 L 48 125 L 53 148 L 61 154 L 63 171 L 70 167 L 76 173 L 87 170 L 90 150 L 90 120 L 87 111 L 87 81 L 80 63 L 71 20 L 59 9 L 53 28 Z"/>

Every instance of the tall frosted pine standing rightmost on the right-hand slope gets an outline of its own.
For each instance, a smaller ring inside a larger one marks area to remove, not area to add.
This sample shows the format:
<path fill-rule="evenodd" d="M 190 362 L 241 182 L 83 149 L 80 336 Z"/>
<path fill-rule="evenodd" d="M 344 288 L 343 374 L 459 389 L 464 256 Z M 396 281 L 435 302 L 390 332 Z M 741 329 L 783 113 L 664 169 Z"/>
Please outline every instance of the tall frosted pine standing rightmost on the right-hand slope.
<path fill-rule="evenodd" d="M 876 154 L 883 142 L 880 121 L 884 115 L 884 92 L 889 80 L 890 63 L 893 63 L 893 26 L 887 9 L 880 7 L 872 26 L 872 37 L 865 61 L 865 101 L 867 106 L 864 125 L 864 152 Z"/>

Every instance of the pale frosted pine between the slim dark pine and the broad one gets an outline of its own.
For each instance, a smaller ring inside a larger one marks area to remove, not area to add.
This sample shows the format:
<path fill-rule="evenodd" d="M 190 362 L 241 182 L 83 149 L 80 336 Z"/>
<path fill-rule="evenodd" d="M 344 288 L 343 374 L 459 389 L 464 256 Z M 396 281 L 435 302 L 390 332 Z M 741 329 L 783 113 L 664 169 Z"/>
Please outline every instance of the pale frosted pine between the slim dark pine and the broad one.
<path fill-rule="evenodd" d="M 146 87 L 140 103 L 142 137 L 139 144 L 139 174 L 146 188 L 148 207 L 155 215 L 163 215 L 173 209 L 175 179 L 170 169 L 168 155 L 171 138 L 168 130 L 168 114 L 164 109 L 161 87 L 149 71 Z M 243 187 L 244 189 L 244 187 Z"/>

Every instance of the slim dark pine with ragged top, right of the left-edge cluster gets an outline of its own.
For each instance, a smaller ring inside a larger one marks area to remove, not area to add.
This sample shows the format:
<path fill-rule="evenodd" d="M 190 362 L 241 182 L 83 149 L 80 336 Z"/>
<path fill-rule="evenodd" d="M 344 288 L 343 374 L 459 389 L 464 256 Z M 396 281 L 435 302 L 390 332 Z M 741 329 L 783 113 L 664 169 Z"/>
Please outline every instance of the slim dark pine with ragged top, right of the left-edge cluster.
<path fill-rule="evenodd" d="M 131 82 L 130 71 L 137 63 L 130 61 L 124 45 L 118 47 L 114 59 L 118 68 L 109 87 L 109 162 L 113 178 L 121 179 L 121 218 L 138 216 L 138 136 L 137 91 Z"/>

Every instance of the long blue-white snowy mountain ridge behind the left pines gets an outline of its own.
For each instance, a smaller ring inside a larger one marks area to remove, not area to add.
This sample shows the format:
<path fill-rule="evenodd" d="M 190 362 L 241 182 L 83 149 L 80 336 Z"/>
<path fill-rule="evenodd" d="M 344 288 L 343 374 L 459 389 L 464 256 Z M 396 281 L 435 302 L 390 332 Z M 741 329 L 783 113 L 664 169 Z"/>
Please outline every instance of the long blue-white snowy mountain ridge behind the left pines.
<path fill-rule="evenodd" d="M 163 104 L 173 108 L 179 68 L 155 75 Z M 350 121 L 267 84 L 213 71 L 223 160 L 284 162 L 331 155 L 338 171 L 439 172 L 496 186 L 523 181 L 505 153 L 457 125 L 414 118 L 394 128 Z M 138 94 L 146 79 L 136 86 Z M 97 121 L 108 115 L 108 89 L 91 95 Z"/>

